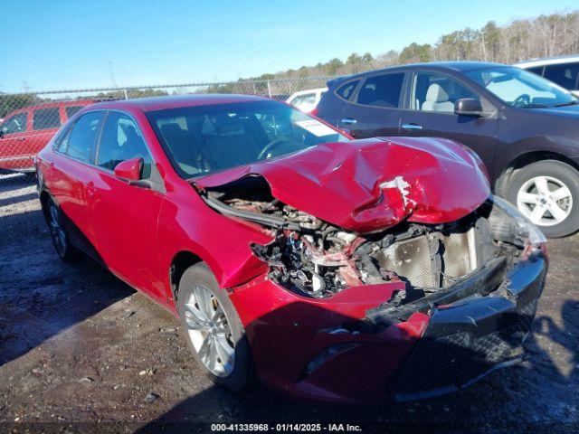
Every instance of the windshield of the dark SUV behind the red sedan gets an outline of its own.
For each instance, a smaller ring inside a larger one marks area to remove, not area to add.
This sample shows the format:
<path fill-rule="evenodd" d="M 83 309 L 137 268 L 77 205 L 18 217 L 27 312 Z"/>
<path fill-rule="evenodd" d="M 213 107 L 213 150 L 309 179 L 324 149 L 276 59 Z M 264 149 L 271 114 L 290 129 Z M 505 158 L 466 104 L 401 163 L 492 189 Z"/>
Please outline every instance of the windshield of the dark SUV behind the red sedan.
<path fill-rule="evenodd" d="M 579 101 L 552 81 L 514 67 L 468 71 L 466 75 L 514 107 L 556 107 Z"/>

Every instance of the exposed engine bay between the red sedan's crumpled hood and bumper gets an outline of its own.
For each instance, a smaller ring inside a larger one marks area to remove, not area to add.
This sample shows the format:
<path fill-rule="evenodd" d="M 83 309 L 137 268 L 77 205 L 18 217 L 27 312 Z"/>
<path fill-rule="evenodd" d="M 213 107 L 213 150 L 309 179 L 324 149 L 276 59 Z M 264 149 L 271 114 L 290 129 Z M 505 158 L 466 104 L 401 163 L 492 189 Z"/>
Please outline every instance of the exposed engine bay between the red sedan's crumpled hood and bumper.
<path fill-rule="evenodd" d="M 200 193 L 215 211 L 269 231 L 274 240 L 252 244 L 253 253 L 269 265 L 269 278 L 305 297 L 403 281 L 406 290 L 392 301 L 405 304 L 452 286 L 491 258 L 505 256 L 512 264 L 525 247 L 491 202 L 456 222 L 402 222 L 358 234 L 281 203 L 261 176 Z"/>

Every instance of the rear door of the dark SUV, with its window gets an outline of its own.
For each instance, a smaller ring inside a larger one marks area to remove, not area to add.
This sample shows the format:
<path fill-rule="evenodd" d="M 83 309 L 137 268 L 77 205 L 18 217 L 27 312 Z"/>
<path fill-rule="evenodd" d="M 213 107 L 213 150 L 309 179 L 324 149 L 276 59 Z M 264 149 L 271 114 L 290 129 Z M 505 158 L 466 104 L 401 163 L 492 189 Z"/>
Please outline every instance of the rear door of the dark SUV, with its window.
<path fill-rule="evenodd" d="M 404 76 L 403 71 L 366 76 L 344 104 L 337 127 L 356 138 L 398 136 Z"/>

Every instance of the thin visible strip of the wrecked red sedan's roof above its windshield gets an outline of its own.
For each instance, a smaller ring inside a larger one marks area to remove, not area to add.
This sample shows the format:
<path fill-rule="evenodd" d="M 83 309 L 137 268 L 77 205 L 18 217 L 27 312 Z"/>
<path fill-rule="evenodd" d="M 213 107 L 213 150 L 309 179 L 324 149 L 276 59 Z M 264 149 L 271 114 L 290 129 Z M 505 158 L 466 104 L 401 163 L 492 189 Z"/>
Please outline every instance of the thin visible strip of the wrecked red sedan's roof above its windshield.
<path fill-rule="evenodd" d="M 272 100 L 254 95 L 207 94 L 207 95 L 173 95 L 166 97 L 118 99 L 115 101 L 99 102 L 90 106 L 90 109 L 138 109 L 141 111 L 155 111 L 176 109 L 180 107 L 208 106 L 244 101 Z"/>

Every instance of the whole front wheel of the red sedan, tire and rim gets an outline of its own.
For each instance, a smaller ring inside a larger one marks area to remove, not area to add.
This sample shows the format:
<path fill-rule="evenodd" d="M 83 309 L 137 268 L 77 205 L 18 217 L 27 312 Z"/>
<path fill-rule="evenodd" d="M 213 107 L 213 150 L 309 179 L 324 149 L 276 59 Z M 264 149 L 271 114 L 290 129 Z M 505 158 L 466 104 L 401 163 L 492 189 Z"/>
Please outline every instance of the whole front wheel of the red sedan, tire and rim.
<path fill-rule="evenodd" d="M 177 312 L 205 375 L 234 392 L 242 390 L 252 372 L 249 344 L 235 307 L 204 262 L 185 270 Z"/>

